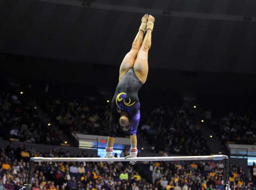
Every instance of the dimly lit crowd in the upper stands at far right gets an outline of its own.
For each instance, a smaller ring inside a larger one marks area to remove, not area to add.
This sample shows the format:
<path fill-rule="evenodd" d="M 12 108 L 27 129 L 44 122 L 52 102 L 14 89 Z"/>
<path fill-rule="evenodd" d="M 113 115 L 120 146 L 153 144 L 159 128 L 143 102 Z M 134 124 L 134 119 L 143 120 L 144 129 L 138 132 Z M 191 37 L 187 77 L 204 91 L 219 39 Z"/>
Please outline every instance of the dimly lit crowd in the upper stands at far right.
<path fill-rule="evenodd" d="M 223 144 L 256 144 L 256 120 L 254 114 L 230 112 L 227 116 L 211 122 L 211 128 Z"/>

